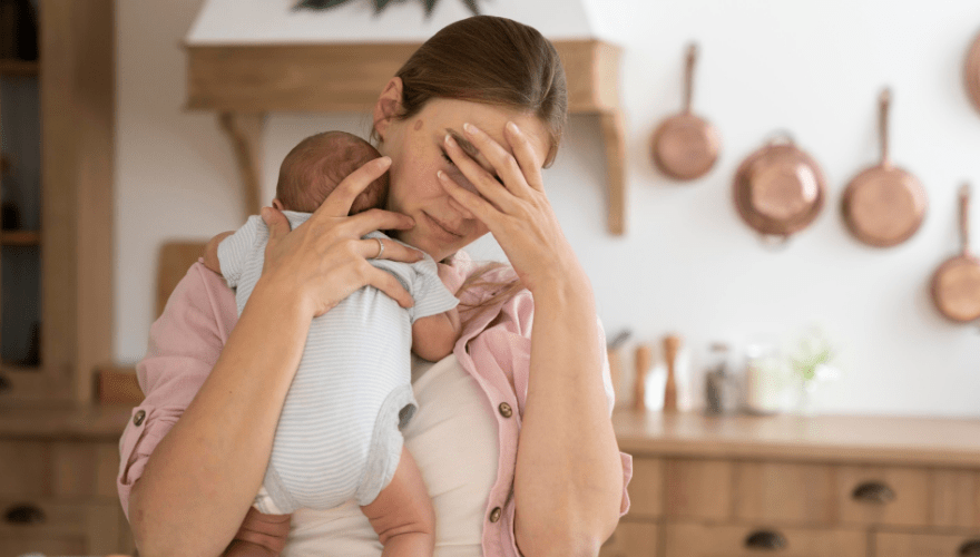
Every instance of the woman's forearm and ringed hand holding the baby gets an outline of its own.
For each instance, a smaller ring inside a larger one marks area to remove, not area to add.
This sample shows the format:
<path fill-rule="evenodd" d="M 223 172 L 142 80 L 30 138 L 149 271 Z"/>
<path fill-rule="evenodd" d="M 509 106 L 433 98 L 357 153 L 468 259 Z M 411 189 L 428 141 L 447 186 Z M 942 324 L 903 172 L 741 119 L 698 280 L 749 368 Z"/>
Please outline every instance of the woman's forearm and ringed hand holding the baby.
<path fill-rule="evenodd" d="M 376 243 L 360 240 L 408 228 L 411 219 L 382 211 L 346 216 L 388 166 L 382 158 L 355 170 L 293 232 L 285 216 L 264 209 L 263 275 L 214 369 L 133 486 L 128 510 L 140 555 L 218 555 L 232 540 L 262 483 L 313 316 L 365 284 L 412 304 L 391 274 L 366 262 Z M 395 242 L 386 247 L 386 258 L 421 258 Z"/>

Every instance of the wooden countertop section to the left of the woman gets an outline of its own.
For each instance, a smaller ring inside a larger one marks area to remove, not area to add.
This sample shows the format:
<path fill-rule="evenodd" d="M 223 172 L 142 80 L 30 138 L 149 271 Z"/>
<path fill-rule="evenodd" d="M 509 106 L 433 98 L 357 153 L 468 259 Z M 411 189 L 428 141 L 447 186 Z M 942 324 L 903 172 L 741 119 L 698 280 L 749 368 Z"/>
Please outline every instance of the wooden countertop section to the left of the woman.
<path fill-rule="evenodd" d="M 0 402 L 0 438 L 119 440 L 133 405 Z"/>

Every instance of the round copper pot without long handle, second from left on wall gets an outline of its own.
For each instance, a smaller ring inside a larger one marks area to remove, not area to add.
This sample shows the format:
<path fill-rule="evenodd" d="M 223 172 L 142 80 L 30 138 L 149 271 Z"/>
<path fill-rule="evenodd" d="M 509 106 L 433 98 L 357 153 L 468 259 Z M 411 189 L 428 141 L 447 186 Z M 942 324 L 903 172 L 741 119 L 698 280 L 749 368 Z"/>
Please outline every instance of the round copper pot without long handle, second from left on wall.
<path fill-rule="evenodd" d="M 749 155 L 735 173 L 735 207 L 748 226 L 787 240 L 816 218 L 826 197 L 816 162 L 780 136 Z"/>

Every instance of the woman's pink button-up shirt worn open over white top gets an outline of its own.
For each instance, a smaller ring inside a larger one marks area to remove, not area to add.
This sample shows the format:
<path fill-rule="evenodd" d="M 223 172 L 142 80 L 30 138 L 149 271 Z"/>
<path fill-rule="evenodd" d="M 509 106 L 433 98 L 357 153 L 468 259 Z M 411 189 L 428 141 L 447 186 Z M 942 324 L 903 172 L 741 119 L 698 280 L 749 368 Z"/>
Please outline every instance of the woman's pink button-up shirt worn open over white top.
<path fill-rule="evenodd" d="M 460 253 L 453 267 L 460 271 L 460 276 L 464 276 L 477 265 Z M 491 271 L 487 278 L 507 280 L 512 276 L 510 267 L 501 267 Z M 469 289 L 462 294 L 461 301 L 473 304 L 491 295 L 492 292 L 486 287 Z M 460 307 L 464 311 L 463 305 Z M 453 350 L 460 364 L 487 394 L 488 402 L 498 409 L 494 416 L 500 433 L 500 461 L 484 515 L 483 555 L 487 557 L 519 556 L 513 535 L 513 475 L 527 399 L 532 319 L 533 301 L 530 292 L 523 290 L 491 305 L 472 320 Z M 116 482 L 127 517 L 133 483 L 143 476 L 150 453 L 180 418 L 210 373 L 237 320 L 234 293 L 224 278 L 198 262 L 174 290 L 164 314 L 153 324 L 146 358 L 136 368 L 146 399 L 133 409 L 133 419 L 119 441 L 120 466 Z M 601 353 L 605 354 L 601 326 L 596 342 L 601 344 Z M 605 360 L 602 373 L 611 409 L 609 364 Z M 506 407 L 501 409 L 504 402 L 517 411 L 508 412 Z M 629 508 L 626 485 L 633 476 L 633 458 L 626 453 L 620 453 L 620 458 L 624 476 L 621 516 Z"/>

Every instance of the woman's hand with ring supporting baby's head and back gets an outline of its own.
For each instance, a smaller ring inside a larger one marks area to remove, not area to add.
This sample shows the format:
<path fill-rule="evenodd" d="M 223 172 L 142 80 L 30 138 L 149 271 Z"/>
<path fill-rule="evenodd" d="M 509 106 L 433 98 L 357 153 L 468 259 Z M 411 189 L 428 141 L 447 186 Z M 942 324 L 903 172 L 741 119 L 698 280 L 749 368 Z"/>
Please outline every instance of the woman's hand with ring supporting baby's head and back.
<path fill-rule="evenodd" d="M 262 209 L 270 228 L 262 278 L 255 292 L 292 294 L 311 317 L 326 313 L 361 286 L 371 285 L 394 299 L 402 307 L 412 296 L 391 275 L 367 263 L 381 251 L 379 241 L 361 240 L 378 229 L 406 229 L 414 222 L 399 213 L 370 209 L 347 216 L 357 194 L 391 166 L 381 157 L 351 173 L 327 196 L 308 221 L 290 231 L 285 215 L 272 207 Z M 414 263 L 421 252 L 398 242 L 384 241 L 382 258 Z M 255 295 L 255 294 L 253 294 Z"/>

